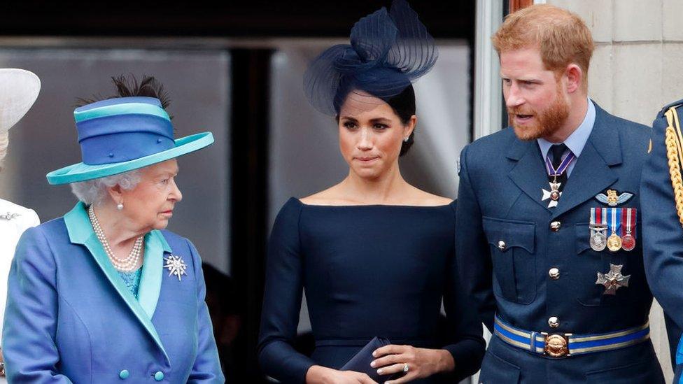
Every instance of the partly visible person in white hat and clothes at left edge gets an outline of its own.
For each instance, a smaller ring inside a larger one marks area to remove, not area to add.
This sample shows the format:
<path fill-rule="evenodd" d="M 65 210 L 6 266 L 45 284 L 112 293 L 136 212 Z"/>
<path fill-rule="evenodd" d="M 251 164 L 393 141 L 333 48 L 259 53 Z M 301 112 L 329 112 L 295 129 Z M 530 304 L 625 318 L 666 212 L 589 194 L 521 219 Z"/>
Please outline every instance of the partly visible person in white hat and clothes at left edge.
<path fill-rule="evenodd" d="M 35 73 L 23 69 L 0 69 L 0 171 L 7 155 L 8 131 L 29 111 L 40 90 L 41 80 Z M 17 241 L 26 229 L 40 223 L 34 210 L 0 198 L 0 333 L 5 314 L 7 276 Z M 6 382 L 0 346 L 0 384 Z"/>

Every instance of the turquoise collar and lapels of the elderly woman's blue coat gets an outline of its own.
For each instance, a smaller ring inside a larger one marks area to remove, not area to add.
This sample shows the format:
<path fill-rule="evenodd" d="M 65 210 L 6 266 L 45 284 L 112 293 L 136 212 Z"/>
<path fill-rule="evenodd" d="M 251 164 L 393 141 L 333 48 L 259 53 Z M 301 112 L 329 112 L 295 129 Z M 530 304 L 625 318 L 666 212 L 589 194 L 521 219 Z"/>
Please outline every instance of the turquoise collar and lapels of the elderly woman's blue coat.
<path fill-rule="evenodd" d="M 145 235 L 145 258 L 140 278 L 139 299 L 127 289 L 118 271 L 109 261 L 104 248 L 87 217 L 85 204 L 79 202 L 69 213 L 64 215 L 66 231 L 69 232 L 69 240 L 74 244 L 82 244 L 90 251 L 92 257 L 104 272 L 111 285 L 120 294 L 127 306 L 136 315 L 150 336 L 166 355 L 166 350 L 161 343 L 157 330 L 152 324 L 152 316 L 159 301 L 164 264 L 164 253 L 171 253 L 171 247 L 160 231 L 153 230 Z M 166 355 L 168 359 L 168 355 Z"/>

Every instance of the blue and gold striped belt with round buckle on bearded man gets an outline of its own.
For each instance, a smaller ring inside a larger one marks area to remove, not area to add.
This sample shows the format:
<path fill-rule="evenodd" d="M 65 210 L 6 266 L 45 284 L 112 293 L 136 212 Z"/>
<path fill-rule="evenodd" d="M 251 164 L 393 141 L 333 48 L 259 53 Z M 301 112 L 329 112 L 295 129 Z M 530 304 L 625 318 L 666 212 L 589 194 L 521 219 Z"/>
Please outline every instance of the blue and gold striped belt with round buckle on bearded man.
<path fill-rule="evenodd" d="M 650 337 L 649 323 L 606 334 L 568 334 L 525 331 L 495 316 L 493 333 L 511 346 L 550 357 L 568 357 L 633 346 Z"/>

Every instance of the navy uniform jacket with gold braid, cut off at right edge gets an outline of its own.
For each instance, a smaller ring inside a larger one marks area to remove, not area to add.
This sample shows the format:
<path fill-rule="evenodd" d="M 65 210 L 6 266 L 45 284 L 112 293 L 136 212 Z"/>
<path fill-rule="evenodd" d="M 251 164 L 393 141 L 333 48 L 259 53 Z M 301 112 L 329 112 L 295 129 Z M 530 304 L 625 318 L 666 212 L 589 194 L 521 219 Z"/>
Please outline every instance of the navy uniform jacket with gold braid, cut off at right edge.
<path fill-rule="evenodd" d="M 672 362 L 676 365 L 677 346 L 683 328 L 683 227 L 676 213 L 673 186 L 666 155 L 664 113 L 670 106 L 677 107 L 683 122 L 683 100 L 664 107 L 652 125 L 652 152 L 642 171 L 640 196 L 643 207 L 643 258 L 645 273 L 657 301 L 664 309 L 666 332 L 669 337 Z M 678 364 L 680 376 L 683 365 Z"/>

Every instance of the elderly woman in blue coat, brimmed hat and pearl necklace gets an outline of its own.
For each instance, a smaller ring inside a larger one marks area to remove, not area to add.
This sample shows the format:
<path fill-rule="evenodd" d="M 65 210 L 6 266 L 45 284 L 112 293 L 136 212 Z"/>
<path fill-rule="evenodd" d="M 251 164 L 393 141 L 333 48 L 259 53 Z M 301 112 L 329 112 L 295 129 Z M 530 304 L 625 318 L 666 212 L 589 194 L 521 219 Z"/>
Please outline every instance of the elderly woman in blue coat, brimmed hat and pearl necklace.
<path fill-rule="evenodd" d="M 118 96 L 76 108 L 83 162 L 48 173 L 80 202 L 29 229 L 8 279 L 10 383 L 223 383 L 201 259 L 165 231 L 182 194 L 162 86 L 116 78 Z"/>

